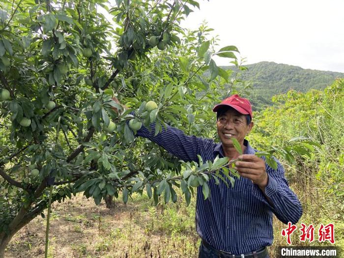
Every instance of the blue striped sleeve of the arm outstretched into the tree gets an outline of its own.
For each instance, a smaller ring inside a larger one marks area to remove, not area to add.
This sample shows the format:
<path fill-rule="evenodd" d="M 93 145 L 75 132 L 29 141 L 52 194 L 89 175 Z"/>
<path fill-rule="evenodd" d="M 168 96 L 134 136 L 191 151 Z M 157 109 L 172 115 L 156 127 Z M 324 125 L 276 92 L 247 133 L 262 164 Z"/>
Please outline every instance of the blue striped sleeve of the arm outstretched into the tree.
<path fill-rule="evenodd" d="M 154 136 L 155 123 L 151 123 L 150 128 L 151 130 L 149 131 L 146 127 L 142 126 L 141 129 L 137 131 L 136 136 L 141 136 L 157 143 L 172 155 L 185 162 L 198 162 L 197 155 L 200 154 L 203 156 L 202 152 L 204 149 L 210 147 L 214 142 L 212 139 L 187 136 L 182 130 L 176 129 L 170 125 L 167 125 L 166 129 L 163 127 L 162 131 L 156 136 Z"/>

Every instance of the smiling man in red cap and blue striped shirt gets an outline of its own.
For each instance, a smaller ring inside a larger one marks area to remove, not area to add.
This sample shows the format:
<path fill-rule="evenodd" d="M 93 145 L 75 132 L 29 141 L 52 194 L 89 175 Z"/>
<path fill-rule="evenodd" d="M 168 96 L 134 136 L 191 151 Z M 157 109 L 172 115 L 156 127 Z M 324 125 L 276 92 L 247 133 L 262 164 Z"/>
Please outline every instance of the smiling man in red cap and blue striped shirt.
<path fill-rule="evenodd" d="M 196 202 L 196 228 L 202 241 L 199 258 L 266 258 L 266 246 L 272 244 L 272 213 L 287 224 L 295 224 L 302 215 L 296 195 L 288 187 L 284 169 L 279 162 L 273 170 L 255 154 L 245 136 L 251 131 L 251 103 L 232 95 L 213 108 L 217 113 L 216 127 L 221 143 L 212 139 L 186 136 L 171 126 L 154 136 L 142 127 L 137 135 L 161 145 L 184 161 L 213 161 L 216 156 L 228 157 L 235 162 L 241 175 L 234 187 L 210 179 L 210 196 L 204 200 L 202 186 L 198 187 Z M 154 127 L 154 124 L 152 124 Z M 234 148 L 235 138 L 243 155 Z"/>

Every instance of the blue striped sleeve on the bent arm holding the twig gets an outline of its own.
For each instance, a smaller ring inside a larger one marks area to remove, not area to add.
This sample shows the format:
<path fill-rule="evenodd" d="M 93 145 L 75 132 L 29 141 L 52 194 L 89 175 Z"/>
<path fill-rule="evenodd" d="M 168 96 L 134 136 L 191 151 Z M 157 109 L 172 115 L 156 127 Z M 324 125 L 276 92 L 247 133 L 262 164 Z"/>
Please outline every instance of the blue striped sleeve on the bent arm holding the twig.
<path fill-rule="evenodd" d="M 296 224 L 302 216 L 302 206 L 295 193 L 289 188 L 283 166 L 277 161 L 277 169 L 274 170 L 266 165 L 266 172 L 269 181 L 265 187 L 265 195 L 273 206 L 267 201 L 258 185 L 255 185 L 256 196 L 272 210 L 280 221 L 285 224 L 288 224 L 289 221 Z"/>

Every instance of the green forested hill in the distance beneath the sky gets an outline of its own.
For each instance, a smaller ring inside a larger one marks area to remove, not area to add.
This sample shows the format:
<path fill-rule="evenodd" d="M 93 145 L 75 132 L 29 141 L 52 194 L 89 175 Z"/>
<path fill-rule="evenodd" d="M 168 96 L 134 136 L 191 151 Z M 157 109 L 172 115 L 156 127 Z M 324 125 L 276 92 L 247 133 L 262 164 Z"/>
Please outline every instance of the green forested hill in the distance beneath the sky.
<path fill-rule="evenodd" d="M 252 100 L 255 110 L 271 105 L 273 95 L 286 93 L 290 89 L 301 92 L 324 89 L 336 78 L 344 78 L 344 73 L 303 69 L 275 62 L 258 62 L 244 66 L 248 70 L 240 71 L 237 78 L 252 82 L 253 89 L 247 97 Z M 235 69 L 235 66 L 222 68 Z"/>

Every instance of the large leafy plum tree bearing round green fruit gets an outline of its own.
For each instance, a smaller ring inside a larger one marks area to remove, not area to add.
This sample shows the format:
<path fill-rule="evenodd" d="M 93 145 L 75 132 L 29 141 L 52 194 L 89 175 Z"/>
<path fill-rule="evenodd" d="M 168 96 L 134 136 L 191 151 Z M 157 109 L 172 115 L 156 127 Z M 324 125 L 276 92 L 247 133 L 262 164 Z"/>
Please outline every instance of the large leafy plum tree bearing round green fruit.
<path fill-rule="evenodd" d="M 195 178 L 209 194 L 204 166 L 195 163 L 190 172 L 190 164 L 154 143 L 147 148 L 130 128 L 155 122 L 157 134 L 170 123 L 213 137 L 211 107 L 234 81 L 212 57 L 239 67 L 238 50 L 215 52 L 215 39 L 203 25 L 198 31 L 180 28 L 192 8 L 199 8 L 195 0 L 116 0 L 112 8 L 106 3 L 1 2 L 0 258 L 11 237 L 44 212 L 48 197 L 64 201 L 83 192 L 99 204 L 109 195 L 122 192 L 126 202 L 146 191 L 158 203 L 162 194 L 165 202 L 176 201 L 173 188 L 181 187 L 190 203 Z M 158 44 L 170 47 L 162 53 Z M 148 99 L 158 100 L 159 108 Z M 216 177 L 226 162 L 207 169 Z M 28 164 L 39 171 L 30 179 L 23 169 Z"/>

